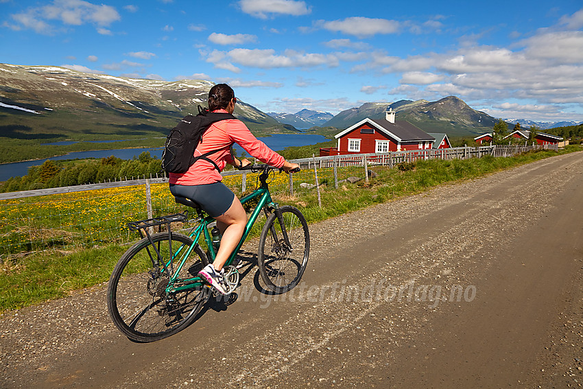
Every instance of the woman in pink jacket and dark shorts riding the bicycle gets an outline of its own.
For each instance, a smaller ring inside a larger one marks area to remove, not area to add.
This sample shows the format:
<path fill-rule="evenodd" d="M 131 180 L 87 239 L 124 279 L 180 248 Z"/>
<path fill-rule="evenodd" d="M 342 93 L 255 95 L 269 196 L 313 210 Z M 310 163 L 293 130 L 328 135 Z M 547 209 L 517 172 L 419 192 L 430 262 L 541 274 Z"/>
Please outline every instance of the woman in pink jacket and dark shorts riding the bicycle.
<path fill-rule="evenodd" d="M 208 101 L 210 112 L 230 114 L 233 114 L 237 103 L 235 92 L 227 84 L 213 86 L 209 91 Z M 242 161 L 239 161 L 233 157 L 231 154 L 233 143 L 237 143 L 243 150 L 263 163 L 280 167 L 285 172 L 299 167 L 297 163 L 285 161 L 283 156 L 268 148 L 265 143 L 253 136 L 242 121 L 237 119 L 213 123 L 202 134 L 194 156 L 218 150 L 209 158 L 216 163 L 220 170 L 224 169 L 227 163 L 235 167 L 249 165 L 250 161 L 247 159 L 243 158 Z M 221 245 L 215 261 L 202 269 L 199 274 L 221 294 L 226 294 L 222 276 L 223 266 L 243 236 L 247 214 L 239 198 L 221 181 L 222 176 L 215 165 L 202 158 L 191 165 L 185 173 L 170 173 L 169 179 L 170 191 L 174 196 L 193 200 L 217 220 L 217 228 L 222 233 Z"/>

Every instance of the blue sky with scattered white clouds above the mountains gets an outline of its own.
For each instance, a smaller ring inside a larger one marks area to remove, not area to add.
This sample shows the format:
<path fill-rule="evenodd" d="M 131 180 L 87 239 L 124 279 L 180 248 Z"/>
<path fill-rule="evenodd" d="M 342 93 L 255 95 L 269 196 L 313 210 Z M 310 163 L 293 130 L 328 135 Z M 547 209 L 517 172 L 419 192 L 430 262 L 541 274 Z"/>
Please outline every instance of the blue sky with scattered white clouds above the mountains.
<path fill-rule="evenodd" d="M 580 0 L 0 0 L 0 62 L 227 82 L 265 112 L 455 95 L 583 121 Z"/>

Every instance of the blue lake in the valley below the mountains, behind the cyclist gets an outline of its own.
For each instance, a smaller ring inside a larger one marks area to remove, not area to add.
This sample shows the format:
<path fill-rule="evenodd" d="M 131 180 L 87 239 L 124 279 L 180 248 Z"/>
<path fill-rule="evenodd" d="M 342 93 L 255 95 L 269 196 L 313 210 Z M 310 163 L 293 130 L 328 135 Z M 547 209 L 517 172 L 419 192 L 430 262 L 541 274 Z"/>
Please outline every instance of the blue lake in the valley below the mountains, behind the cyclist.
<path fill-rule="evenodd" d="M 263 141 L 272 150 L 283 150 L 289 146 L 305 146 L 313 145 L 315 143 L 325 142 L 328 139 L 322 135 L 314 134 L 275 134 L 271 137 L 257 138 Z M 62 143 L 59 143 L 62 144 Z M 244 151 L 239 145 L 235 145 L 235 150 L 238 155 Z M 121 159 L 132 159 L 139 156 L 142 152 L 150 152 L 152 156 L 162 157 L 162 148 L 137 148 L 137 149 L 119 149 L 119 150 L 95 150 L 89 152 L 71 152 L 62 156 L 54 156 L 51 158 L 38 159 L 36 161 L 25 161 L 15 163 L 0 164 L 0 181 L 8 180 L 10 177 L 25 176 L 28 168 L 31 166 L 42 165 L 47 159 L 53 161 L 62 159 L 75 158 L 107 158 L 108 156 L 116 156 Z M 248 153 L 246 153 L 248 155 Z"/>

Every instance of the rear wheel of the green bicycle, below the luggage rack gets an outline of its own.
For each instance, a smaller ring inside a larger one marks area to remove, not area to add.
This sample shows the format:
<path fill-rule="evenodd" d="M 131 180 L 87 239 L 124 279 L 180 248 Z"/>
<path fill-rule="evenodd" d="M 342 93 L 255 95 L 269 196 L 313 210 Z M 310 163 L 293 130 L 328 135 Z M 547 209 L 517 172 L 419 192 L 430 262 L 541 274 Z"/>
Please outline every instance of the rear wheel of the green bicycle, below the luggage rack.
<path fill-rule="evenodd" d="M 182 255 L 169 261 L 168 233 L 156 233 L 151 238 L 167 263 L 168 272 L 161 263 L 156 264 L 158 256 L 150 239 L 145 237 L 121 256 L 108 283 L 110 317 L 124 335 L 136 342 L 153 342 L 181 331 L 195 320 L 210 296 L 209 288 L 204 285 L 167 294 L 169 276 L 166 274 L 175 271 Z M 171 241 L 174 253 L 179 247 L 188 248 L 193 244 L 191 238 L 178 233 L 171 234 Z M 196 276 L 206 264 L 206 255 L 196 245 L 179 276 Z"/>

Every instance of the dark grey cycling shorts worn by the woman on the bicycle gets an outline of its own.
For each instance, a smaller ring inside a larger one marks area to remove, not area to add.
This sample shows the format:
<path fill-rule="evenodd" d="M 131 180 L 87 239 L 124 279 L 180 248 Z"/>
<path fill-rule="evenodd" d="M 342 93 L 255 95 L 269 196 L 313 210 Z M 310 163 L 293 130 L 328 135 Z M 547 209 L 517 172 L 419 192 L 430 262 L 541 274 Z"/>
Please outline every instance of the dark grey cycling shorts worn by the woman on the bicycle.
<path fill-rule="evenodd" d="M 235 200 L 235 193 L 220 181 L 204 185 L 170 184 L 170 192 L 198 203 L 211 217 L 224 214 Z"/>

